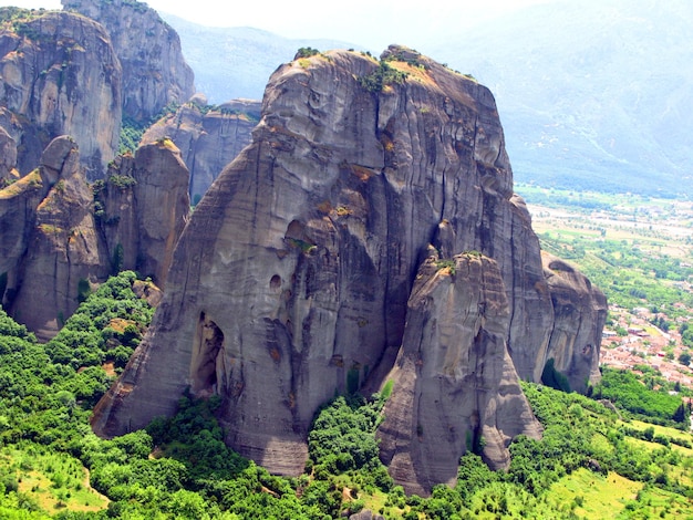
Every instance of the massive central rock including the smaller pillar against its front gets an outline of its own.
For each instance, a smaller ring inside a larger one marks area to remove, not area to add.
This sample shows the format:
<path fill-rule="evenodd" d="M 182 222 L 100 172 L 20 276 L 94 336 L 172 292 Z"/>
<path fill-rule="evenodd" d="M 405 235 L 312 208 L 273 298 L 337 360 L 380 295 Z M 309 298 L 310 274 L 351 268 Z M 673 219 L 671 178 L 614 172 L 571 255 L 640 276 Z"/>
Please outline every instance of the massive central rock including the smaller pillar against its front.
<path fill-rule="evenodd" d="M 318 406 L 393 377 L 394 394 L 441 402 L 393 401 L 401 423 L 383 429 L 395 476 L 424 490 L 449 479 L 441 459 L 456 462 L 467 431 L 489 436 L 497 466 L 511 436 L 538 434 L 518 375 L 540 376 L 554 304 L 493 96 L 407 49 L 381 58 L 298 56 L 272 75 L 252 143 L 186 226 L 96 431 L 173 413 L 188 387 L 216 393 L 227 441 L 297 474 Z M 433 272 L 432 251 L 454 275 Z"/>

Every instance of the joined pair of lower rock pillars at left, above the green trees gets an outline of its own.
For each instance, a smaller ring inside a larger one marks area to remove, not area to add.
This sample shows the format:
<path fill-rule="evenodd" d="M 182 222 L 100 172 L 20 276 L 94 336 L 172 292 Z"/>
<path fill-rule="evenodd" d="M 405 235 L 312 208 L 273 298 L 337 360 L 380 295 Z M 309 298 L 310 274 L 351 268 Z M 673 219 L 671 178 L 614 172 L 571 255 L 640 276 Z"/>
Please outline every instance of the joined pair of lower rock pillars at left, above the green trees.
<path fill-rule="evenodd" d="M 53 336 L 92 284 L 135 269 L 161 285 L 189 214 L 188 171 L 170 141 L 120 157 L 94 194 L 71 137 L 0 190 L 0 298 L 39 339 Z"/>

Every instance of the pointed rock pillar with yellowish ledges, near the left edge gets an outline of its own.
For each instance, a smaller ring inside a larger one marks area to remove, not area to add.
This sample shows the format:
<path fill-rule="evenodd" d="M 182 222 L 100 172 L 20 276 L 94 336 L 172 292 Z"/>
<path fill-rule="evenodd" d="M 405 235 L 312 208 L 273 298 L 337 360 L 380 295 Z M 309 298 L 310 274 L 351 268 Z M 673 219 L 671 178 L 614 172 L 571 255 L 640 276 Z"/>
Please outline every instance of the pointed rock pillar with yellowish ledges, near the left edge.
<path fill-rule="evenodd" d="M 28 177 L 50 189 L 34 207 L 34 226 L 24 231 L 25 252 L 11 277 L 14 295 L 9 312 L 45 340 L 74 312 L 80 290 L 103 280 L 108 270 L 74 141 L 54 139 L 39 170 Z"/>

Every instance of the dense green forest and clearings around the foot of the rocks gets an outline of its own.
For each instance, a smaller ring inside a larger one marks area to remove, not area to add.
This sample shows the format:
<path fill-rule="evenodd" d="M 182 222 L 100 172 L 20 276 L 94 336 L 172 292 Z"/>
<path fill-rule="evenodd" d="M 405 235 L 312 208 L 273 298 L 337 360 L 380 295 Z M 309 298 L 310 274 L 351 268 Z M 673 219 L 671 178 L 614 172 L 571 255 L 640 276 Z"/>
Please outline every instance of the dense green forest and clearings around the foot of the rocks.
<path fill-rule="evenodd" d="M 405 519 L 603 518 L 603 508 L 618 518 L 693 518 L 690 433 L 643 422 L 673 417 L 681 397 L 631 409 L 630 394 L 642 402 L 651 391 L 630 379 L 614 387 L 612 376 L 592 394 L 618 408 L 525 383 L 544 438 L 517 438 L 505 472 L 464 455 L 457 486 L 430 498 L 407 497 L 377 458 L 374 433 L 392 384 L 325 403 L 298 478 L 269 475 L 229 449 L 215 397 L 184 395 L 175 417 L 100 439 L 90 410 L 152 318 L 134 283 L 147 282 L 132 272 L 112 278 L 46 344 L 0 312 L 0 518 L 328 519 L 362 509 Z"/>

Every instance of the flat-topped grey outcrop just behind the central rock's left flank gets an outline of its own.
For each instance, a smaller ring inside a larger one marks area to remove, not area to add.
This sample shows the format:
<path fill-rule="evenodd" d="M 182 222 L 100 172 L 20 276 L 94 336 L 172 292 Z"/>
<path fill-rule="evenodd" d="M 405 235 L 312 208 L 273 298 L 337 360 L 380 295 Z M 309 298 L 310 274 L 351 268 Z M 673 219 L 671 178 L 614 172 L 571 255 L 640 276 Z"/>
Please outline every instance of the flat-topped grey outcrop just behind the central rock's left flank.
<path fill-rule="evenodd" d="M 259 101 L 234 100 L 208 106 L 203 95 L 195 95 L 176 113 L 149 126 L 142 144 L 164 137 L 176 144 L 190 170 L 190 198 L 197 202 L 224 167 L 250 144 L 259 119 Z"/>

